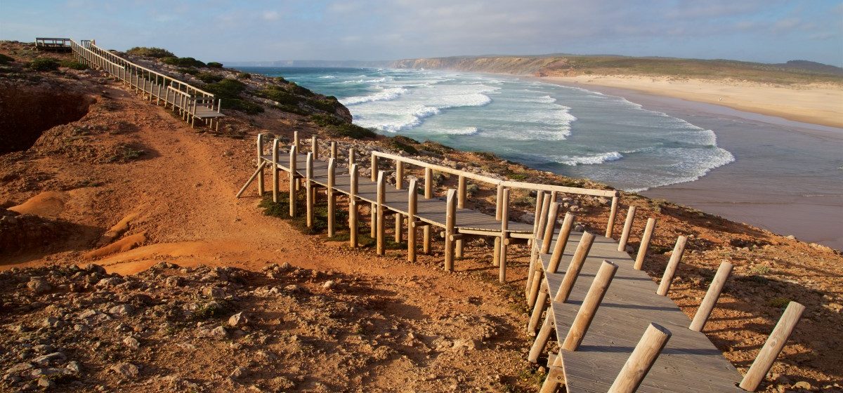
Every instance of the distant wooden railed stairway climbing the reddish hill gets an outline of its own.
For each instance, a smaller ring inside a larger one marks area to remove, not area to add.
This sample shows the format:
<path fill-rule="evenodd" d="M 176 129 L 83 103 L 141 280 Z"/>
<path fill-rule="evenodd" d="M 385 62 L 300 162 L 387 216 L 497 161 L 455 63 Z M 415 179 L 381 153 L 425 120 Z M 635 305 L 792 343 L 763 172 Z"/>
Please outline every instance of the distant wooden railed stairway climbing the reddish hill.
<path fill-rule="evenodd" d="M 70 42 L 70 48 L 77 61 L 86 62 L 90 66 L 108 72 L 113 77 L 126 82 L 131 88 L 135 88 L 136 92 L 148 94 L 149 100 L 154 100 L 156 104 L 160 104 L 163 100 L 164 107 L 168 104 L 172 105 L 173 110 L 178 110 L 182 114 L 182 119 L 191 123 L 191 126 L 195 125 L 197 118 L 210 120 L 210 125 L 213 125 L 213 119 L 223 116 L 222 99 L 215 98 L 212 93 L 128 61 L 109 50 L 100 48 L 91 40 L 81 40 L 78 43 L 74 40 L 66 40 Z M 218 128 L 218 119 L 216 123 Z"/>

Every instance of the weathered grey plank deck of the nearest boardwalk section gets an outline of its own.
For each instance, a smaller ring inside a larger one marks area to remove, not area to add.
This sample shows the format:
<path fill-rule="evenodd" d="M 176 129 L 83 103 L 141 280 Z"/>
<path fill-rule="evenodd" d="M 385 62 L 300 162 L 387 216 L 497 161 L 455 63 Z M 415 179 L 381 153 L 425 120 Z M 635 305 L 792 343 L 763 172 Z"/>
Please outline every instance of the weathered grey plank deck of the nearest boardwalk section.
<path fill-rule="evenodd" d="M 570 262 L 581 234 L 574 233 L 566 244 L 561 266 Z M 555 247 L 556 244 L 554 243 Z M 588 332 L 576 351 L 561 351 L 565 385 L 569 392 L 605 392 L 630 357 L 642 332 L 651 322 L 666 327 L 672 337 L 652 365 L 637 391 L 640 392 L 740 392 L 742 376 L 708 337 L 688 328 L 690 319 L 673 300 L 656 294 L 658 285 L 643 270 L 633 268 L 634 260 L 617 251 L 617 242 L 598 236 L 588 253 L 571 295 L 564 303 L 552 302 L 559 343 L 583 305 L 589 286 L 601 263 L 618 265 Z M 550 254 L 540 254 L 545 268 Z M 546 274 L 542 284 L 556 297 L 564 273 Z"/>

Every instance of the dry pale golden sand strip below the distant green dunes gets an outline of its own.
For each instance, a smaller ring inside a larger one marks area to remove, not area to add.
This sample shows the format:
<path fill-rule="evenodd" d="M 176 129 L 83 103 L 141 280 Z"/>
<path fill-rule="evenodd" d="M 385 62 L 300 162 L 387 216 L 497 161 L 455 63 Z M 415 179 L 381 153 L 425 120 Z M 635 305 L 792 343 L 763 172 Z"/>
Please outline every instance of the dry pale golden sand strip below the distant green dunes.
<path fill-rule="evenodd" d="M 624 88 L 804 123 L 843 127 L 843 88 L 831 84 L 789 87 L 728 80 L 593 75 L 542 79 L 563 84 Z"/>

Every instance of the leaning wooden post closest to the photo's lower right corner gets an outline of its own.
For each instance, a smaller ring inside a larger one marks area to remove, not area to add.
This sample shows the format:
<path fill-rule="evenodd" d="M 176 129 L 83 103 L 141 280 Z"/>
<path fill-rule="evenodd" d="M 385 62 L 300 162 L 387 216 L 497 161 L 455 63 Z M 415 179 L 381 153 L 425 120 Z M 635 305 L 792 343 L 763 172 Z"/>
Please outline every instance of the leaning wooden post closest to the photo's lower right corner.
<path fill-rule="evenodd" d="M 758 389 L 758 385 L 760 385 L 761 380 L 764 380 L 767 372 L 770 371 L 773 362 L 776 361 L 776 357 L 781 353 L 781 349 L 785 348 L 787 337 L 790 337 L 793 328 L 796 327 L 796 323 L 802 317 L 803 311 L 805 311 L 805 306 L 795 301 L 787 304 L 784 314 L 781 315 L 779 322 L 776 323 L 776 327 L 770 333 L 770 337 L 767 337 L 764 347 L 761 348 L 758 356 L 752 362 L 752 366 L 749 367 L 749 371 L 744 375 L 744 380 L 741 380 L 741 389 L 749 391 Z"/>

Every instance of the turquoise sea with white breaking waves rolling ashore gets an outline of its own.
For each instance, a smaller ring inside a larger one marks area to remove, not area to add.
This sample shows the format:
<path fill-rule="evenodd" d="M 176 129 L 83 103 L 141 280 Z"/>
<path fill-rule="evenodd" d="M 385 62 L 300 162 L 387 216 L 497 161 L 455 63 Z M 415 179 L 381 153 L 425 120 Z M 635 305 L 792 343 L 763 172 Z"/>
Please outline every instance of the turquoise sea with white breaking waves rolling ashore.
<path fill-rule="evenodd" d="M 386 135 L 491 151 L 529 167 L 641 191 L 734 161 L 717 137 L 624 98 L 517 77 L 374 68 L 243 67 L 333 95 Z"/>

